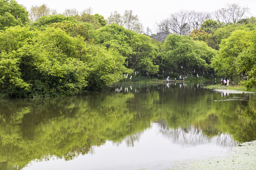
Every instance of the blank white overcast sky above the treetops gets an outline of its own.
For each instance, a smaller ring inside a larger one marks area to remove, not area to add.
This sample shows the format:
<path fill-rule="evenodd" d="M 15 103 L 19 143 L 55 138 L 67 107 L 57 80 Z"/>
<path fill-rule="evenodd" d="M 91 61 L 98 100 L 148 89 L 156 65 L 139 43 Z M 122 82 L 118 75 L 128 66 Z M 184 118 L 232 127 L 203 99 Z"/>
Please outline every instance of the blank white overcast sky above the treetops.
<path fill-rule="evenodd" d="M 239 3 L 242 7 L 250 8 L 251 16 L 256 16 L 256 0 L 17 0 L 27 9 L 31 5 L 46 4 L 49 8 L 63 13 L 66 8 L 76 8 L 82 11 L 91 7 L 93 14 L 98 13 L 107 19 L 111 12 L 118 11 L 121 15 L 125 10 L 137 14 L 146 28 L 155 31 L 155 23 L 167 18 L 171 13 L 181 9 L 213 12 L 225 7 L 226 3 Z"/>

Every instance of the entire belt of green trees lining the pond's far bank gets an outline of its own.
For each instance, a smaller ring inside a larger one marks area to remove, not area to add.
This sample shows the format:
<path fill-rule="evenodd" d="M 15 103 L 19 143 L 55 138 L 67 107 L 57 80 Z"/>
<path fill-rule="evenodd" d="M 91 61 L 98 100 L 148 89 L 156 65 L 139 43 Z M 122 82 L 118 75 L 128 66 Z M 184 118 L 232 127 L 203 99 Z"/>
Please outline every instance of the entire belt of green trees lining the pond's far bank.
<path fill-rule="evenodd" d="M 255 87 L 255 17 L 225 24 L 205 14 L 189 36 L 181 31 L 160 43 L 139 34 L 142 25 L 131 10 L 105 20 L 92 8 L 56 14 L 41 5 L 28 12 L 15 0 L 0 0 L 0 7 L 1 97 L 74 95 L 134 73 L 177 78 L 217 71 L 231 79 L 244 75 L 243 84 Z"/>

